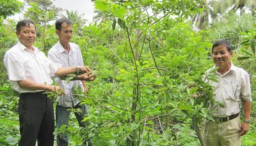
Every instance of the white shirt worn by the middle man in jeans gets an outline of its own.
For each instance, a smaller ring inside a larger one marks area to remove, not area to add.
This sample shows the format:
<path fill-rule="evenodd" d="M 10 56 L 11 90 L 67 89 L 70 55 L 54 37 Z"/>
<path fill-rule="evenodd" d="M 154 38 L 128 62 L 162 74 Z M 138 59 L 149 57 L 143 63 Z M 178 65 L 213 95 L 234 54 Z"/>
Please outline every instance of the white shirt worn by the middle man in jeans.
<path fill-rule="evenodd" d="M 70 47 L 69 53 L 63 48 L 60 41 L 56 43 L 48 52 L 48 58 L 59 68 L 68 68 L 74 66 L 84 66 L 83 57 L 81 53 L 81 49 L 75 43 L 68 43 Z M 66 94 L 62 94 L 57 98 L 57 102 L 59 105 L 64 107 L 76 106 L 81 102 L 80 99 L 76 98 L 74 94 L 73 87 L 77 89 L 77 87 L 81 87 L 84 91 L 83 84 L 80 80 L 74 80 L 69 82 L 68 84 L 65 80 L 61 80 L 60 78 L 55 79 L 56 84 L 60 85 L 60 87 L 65 91 Z"/>

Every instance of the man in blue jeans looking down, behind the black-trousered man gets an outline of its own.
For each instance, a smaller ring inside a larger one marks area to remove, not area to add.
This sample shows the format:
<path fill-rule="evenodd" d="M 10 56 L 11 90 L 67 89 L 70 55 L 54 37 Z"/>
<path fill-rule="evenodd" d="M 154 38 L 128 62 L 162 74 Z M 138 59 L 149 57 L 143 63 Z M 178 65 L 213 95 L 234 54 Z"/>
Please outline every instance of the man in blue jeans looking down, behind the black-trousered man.
<path fill-rule="evenodd" d="M 56 34 L 59 41 L 49 50 L 48 58 L 60 68 L 70 66 L 84 66 L 81 50 L 75 43 L 70 43 L 72 38 L 73 28 L 72 22 L 67 18 L 60 18 L 55 23 Z M 84 92 L 88 92 L 84 81 L 76 80 L 66 83 L 65 80 L 56 78 L 56 84 L 60 85 L 66 94 L 62 94 L 57 99 L 56 105 L 56 124 L 57 128 L 63 125 L 68 126 L 70 117 L 70 108 L 81 109 L 82 114 L 75 113 L 80 127 L 85 127 L 84 115 L 88 114 L 86 105 L 81 105 L 81 100 L 74 96 L 74 88 L 81 88 Z M 86 142 L 84 142 L 85 145 Z M 57 145 L 68 145 L 68 137 L 57 135 Z M 91 140 L 88 140 L 88 145 L 92 145 Z"/>

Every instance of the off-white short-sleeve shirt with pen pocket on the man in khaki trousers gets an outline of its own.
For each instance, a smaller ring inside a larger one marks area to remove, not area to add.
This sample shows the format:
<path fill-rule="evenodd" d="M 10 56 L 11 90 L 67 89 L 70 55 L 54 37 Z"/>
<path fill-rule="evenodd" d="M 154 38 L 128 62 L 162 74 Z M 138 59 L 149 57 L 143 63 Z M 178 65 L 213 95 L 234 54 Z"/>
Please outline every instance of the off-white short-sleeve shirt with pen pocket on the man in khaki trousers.
<path fill-rule="evenodd" d="M 221 75 L 216 71 L 216 75 L 218 75 L 219 83 L 210 80 L 209 84 L 214 87 L 213 92 L 216 100 L 223 103 L 225 107 L 217 104 L 210 105 L 209 113 L 212 117 L 228 117 L 239 113 L 242 99 L 252 101 L 250 75 L 232 63 L 227 73 Z"/>

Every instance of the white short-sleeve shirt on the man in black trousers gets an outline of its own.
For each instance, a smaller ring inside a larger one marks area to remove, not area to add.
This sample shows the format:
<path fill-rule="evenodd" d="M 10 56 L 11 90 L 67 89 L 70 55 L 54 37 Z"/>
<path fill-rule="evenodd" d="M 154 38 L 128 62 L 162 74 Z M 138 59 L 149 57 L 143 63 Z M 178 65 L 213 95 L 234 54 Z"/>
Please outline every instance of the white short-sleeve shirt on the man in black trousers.
<path fill-rule="evenodd" d="M 58 67 L 47 59 L 43 52 L 36 47 L 33 47 L 33 49 L 34 52 L 30 51 L 19 41 L 4 55 L 4 65 L 10 83 L 13 89 L 19 93 L 41 90 L 21 88 L 17 81 L 28 79 L 38 84 L 51 85 L 51 76 L 58 70 Z"/>

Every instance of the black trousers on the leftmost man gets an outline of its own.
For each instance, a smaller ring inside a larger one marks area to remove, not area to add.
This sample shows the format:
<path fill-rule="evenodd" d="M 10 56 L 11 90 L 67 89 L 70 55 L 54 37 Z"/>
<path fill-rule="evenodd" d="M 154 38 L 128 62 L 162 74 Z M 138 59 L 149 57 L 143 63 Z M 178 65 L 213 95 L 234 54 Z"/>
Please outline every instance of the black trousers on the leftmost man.
<path fill-rule="evenodd" d="M 21 93 L 19 98 L 19 146 L 51 146 L 54 142 L 52 100 L 43 92 Z"/>

